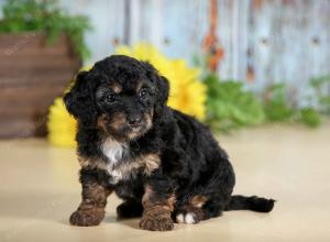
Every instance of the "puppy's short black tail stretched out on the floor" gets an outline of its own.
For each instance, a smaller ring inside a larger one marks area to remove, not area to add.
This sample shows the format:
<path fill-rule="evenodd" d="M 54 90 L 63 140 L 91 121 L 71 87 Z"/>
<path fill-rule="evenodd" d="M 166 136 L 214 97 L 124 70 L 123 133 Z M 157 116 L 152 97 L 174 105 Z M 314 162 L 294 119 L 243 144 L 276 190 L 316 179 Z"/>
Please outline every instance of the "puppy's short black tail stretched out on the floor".
<path fill-rule="evenodd" d="M 257 212 L 270 212 L 274 208 L 275 200 L 260 198 L 256 196 L 244 197 L 241 195 L 231 196 L 230 202 L 224 208 L 230 210 L 252 210 Z"/>

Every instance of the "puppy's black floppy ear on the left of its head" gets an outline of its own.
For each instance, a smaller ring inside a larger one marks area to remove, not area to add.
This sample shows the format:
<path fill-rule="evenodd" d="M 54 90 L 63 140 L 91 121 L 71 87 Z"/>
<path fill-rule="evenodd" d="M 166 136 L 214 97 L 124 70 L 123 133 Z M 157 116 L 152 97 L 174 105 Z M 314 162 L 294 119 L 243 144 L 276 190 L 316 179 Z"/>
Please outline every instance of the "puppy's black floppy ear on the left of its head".
<path fill-rule="evenodd" d="M 88 81 L 88 74 L 80 72 L 70 91 L 63 98 L 67 111 L 84 123 L 91 123 L 97 118 L 92 81 Z"/>

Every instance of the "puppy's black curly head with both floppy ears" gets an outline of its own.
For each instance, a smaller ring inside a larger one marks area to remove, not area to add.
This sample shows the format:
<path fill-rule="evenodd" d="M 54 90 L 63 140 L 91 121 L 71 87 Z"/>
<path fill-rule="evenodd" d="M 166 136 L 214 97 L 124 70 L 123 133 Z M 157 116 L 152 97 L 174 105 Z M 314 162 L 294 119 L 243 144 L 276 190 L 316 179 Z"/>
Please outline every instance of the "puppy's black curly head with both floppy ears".
<path fill-rule="evenodd" d="M 64 101 L 82 125 L 98 127 L 117 140 L 145 134 L 168 98 L 168 81 L 145 62 L 113 55 L 81 72 Z"/>

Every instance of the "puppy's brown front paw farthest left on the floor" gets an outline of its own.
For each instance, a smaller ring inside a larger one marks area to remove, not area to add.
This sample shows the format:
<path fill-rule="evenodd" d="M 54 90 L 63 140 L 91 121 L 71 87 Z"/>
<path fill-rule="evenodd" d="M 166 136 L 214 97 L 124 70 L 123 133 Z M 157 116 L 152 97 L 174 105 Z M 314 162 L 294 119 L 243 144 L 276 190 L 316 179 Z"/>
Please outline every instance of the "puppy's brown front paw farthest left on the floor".
<path fill-rule="evenodd" d="M 72 226 L 91 227 L 98 226 L 105 218 L 103 209 L 77 210 L 70 216 Z"/>

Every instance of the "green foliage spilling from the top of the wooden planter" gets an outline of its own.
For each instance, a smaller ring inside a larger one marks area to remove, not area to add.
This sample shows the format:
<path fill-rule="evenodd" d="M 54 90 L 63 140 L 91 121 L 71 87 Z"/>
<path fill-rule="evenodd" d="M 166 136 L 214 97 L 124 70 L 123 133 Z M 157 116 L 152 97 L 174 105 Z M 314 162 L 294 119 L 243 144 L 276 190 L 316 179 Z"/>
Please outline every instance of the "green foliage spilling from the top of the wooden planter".
<path fill-rule="evenodd" d="M 56 0 L 7 0 L 2 11 L 0 33 L 42 32 L 47 35 L 48 44 L 65 34 L 82 59 L 90 55 L 84 42 L 85 31 L 91 29 L 88 19 L 82 15 L 72 16 L 57 7 Z"/>

